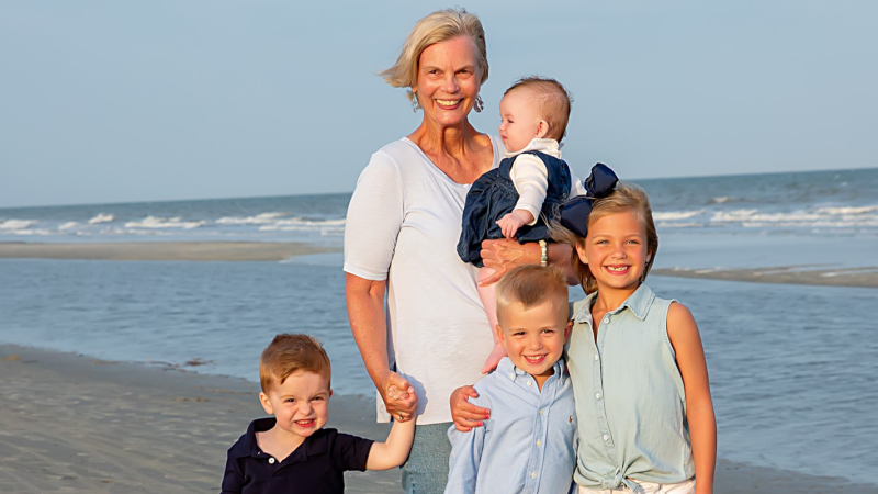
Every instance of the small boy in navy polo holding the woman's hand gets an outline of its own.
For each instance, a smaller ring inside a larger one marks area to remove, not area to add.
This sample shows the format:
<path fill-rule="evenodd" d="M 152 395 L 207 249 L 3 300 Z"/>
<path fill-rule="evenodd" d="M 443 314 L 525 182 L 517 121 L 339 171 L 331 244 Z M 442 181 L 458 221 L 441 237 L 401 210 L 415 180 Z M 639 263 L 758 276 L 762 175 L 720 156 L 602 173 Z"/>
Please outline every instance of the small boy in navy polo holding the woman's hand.
<path fill-rule="evenodd" d="M 262 351 L 259 401 L 274 417 L 258 418 L 228 450 L 223 493 L 345 492 L 346 470 L 387 470 L 403 464 L 415 420 L 395 422 L 386 442 L 324 429 L 331 368 L 307 335 L 278 335 Z M 407 390 L 414 393 L 414 389 Z"/>

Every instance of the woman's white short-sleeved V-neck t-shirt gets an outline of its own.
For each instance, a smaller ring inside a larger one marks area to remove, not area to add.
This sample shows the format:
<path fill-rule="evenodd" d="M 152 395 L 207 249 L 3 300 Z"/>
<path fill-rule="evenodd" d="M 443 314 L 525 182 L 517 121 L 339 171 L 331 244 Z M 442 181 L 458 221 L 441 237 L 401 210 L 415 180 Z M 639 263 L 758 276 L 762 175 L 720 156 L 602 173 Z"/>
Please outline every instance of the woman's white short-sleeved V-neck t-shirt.
<path fill-rule="evenodd" d="M 505 148 L 491 142 L 494 168 Z M 345 271 L 387 280 L 389 361 L 418 395 L 418 424 L 451 422 L 451 392 L 482 377 L 494 346 L 479 269 L 457 251 L 469 190 L 402 138 L 372 155 L 348 206 Z M 378 412 L 390 420 L 380 396 Z"/>

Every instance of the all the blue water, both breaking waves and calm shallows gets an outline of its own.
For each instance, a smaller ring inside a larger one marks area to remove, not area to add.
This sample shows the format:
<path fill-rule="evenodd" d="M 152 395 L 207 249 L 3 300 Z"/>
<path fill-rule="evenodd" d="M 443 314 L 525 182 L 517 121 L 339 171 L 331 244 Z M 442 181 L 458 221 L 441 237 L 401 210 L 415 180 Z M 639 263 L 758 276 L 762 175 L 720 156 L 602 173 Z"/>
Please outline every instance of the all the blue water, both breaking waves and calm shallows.
<path fill-rule="evenodd" d="M 640 183 L 658 221 L 657 267 L 878 266 L 878 169 Z M 0 210 L 0 242 L 336 247 L 348 199 Z M 282 262 L 0 259 L 0 343 L 233 375 L 257 386 L 258 357 L 272 336 L 304 332 L 325 343 L 338 393 L 371 395 L 348 328 L 340 267 L 340 254 Z M 649 283 L 698 321 L 721 458 L 876 483 L 878 324 L 870 310 L 878 290 L 666 277 Z"/>

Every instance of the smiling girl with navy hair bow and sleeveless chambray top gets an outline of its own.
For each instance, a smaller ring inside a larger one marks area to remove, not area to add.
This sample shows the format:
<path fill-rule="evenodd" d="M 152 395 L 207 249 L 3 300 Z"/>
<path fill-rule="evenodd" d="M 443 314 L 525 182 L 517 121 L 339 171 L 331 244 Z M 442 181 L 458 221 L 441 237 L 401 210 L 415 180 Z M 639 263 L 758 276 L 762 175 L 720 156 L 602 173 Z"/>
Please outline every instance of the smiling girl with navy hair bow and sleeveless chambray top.
<path fill-rule="evenodd" d="M 646 194 L 618 183 L 562 212 L 559 242 L 587 296 L 573 304 L 567 366 L 576 398 L 579 493 L 713 492 L 717 425 L 698 327 L 643 284 L 658 248 Z M 458 430 L 489 411 L 451 397 Z M 698 480 L 697 483 L 695 480 Z"/>

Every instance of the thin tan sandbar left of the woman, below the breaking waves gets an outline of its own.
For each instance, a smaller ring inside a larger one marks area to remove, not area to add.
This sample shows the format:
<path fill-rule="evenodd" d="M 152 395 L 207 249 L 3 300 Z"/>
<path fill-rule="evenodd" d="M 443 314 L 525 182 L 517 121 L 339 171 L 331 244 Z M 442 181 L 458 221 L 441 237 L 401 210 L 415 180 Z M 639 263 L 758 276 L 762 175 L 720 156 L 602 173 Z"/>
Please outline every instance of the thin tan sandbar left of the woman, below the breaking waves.
<path fill-rule="evenodd" d="M 279 261 L 333 250 L 279 242 L 0 243 L 0 258 L 41 259 Z"/>

